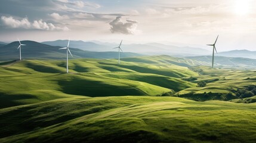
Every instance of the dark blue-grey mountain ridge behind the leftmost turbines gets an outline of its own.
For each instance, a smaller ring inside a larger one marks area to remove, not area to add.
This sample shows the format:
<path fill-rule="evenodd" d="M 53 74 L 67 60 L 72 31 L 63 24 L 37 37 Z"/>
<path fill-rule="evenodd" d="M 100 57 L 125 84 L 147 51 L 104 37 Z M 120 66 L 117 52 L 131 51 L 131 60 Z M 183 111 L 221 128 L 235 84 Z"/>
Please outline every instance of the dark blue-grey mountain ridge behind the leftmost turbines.
<path fill-rule="evenodd" d="M 51 58 L 65 59 L 66 51 L 60 50 L 61 46 L 50 46 L 35 41 L 22 41 L 26 46 L 22 46 L 21 52 L 23 59 L 29 58 Z M 19 58 L 18 42 L 12 42 L 0 47 L 0 61 L 16 60 Z M 82 49 L 70 48 L 73 57 L 70 58 L 118 58 L 118 52 L 91 52 Z M 134 57 L 140 54 L 123 52 L 121 57 Z"/>

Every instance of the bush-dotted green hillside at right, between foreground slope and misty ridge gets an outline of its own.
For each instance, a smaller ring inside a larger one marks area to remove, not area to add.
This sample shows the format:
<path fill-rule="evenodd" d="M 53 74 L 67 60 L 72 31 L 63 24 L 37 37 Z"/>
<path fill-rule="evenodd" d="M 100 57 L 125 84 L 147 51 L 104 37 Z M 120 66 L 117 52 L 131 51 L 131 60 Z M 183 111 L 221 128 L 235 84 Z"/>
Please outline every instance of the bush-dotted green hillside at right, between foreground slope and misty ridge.
<path fill-rule="evenodd" d="M 210 67 L 192 67 L 200 76 L 195 76 L 198 83 L 207 83 L 204 87 L 192 87 L 178 92 L 175 96 L 193 100 L 233 100 L 239 89 L 245 89 L 249 85 L 256 86 L 256 70 L 240 69 L 211 69 Z M 209 95 L 209 93 L 211 95 Z"/>

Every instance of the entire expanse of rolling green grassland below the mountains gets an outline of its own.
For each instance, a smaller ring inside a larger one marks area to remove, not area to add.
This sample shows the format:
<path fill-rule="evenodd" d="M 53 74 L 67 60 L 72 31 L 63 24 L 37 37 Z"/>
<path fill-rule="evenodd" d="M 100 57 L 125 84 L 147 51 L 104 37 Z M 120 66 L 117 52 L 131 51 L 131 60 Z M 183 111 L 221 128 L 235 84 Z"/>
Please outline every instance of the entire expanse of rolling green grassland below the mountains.
<path fill-rule="evenodd" d="M 254 69 L 168 56 L 116 63 L 70 60 L 69 74 L 61 60 L 0 63 L 0 142 L 255 141 L 255 96 L 236 95 L 256 85 Z"/>

